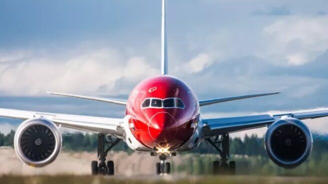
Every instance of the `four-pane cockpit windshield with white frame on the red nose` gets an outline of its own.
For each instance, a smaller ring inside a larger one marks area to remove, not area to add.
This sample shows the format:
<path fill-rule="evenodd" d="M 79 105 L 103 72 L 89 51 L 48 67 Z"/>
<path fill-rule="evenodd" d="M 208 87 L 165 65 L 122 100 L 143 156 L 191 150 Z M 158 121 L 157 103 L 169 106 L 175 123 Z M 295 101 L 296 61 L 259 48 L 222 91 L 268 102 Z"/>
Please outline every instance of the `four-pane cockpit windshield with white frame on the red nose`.
<path fill-rule="evenodd" d="M 141 108 L 184 108 L 184 103 L 180 98 L 145 98 Z"/>

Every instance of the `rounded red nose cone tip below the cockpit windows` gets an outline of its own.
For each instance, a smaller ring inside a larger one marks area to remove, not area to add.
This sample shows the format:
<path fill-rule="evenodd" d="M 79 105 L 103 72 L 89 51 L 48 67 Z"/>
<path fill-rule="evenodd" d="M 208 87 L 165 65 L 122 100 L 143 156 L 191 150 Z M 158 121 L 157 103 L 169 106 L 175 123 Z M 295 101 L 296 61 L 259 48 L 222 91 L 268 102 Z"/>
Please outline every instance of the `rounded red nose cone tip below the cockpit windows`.
<path fill-rule="evenodd" d="M 174 117 L 167 112 L 158 112 L 148 123 L 148 133 L 159 143 L 169 142 L 176 135 L 177 127 Z"/>

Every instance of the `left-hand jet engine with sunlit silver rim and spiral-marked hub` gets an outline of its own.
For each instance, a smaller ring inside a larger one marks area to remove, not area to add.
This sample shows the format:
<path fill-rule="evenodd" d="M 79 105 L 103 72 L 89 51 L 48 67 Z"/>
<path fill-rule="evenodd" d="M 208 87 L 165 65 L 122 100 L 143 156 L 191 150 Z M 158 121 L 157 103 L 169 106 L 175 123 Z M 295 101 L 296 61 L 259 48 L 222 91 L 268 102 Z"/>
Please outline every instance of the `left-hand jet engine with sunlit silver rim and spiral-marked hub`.
<path fill-rule="evenodd" d="M 61 149 L 61 134 L 57 126 L 45 118 L 27 119 L 14 136 L 14 148 L 24 163 L 41 167 L 51 163 Z"/>

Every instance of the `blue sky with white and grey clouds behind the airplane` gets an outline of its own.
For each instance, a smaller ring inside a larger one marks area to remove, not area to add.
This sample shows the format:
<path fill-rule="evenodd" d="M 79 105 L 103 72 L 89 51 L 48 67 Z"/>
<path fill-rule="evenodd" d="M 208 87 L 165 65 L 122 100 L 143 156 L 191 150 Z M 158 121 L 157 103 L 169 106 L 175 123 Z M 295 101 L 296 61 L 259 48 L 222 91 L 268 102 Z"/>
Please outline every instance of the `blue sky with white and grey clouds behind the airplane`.
<path fill-rule="evenodd" d="M 0 0 L 0 107 L 122 117 L 45 92 L 127 98 L 160 71 L 160 4 Z M 328 106 L 326 0 L 167 0 L 167 31 L 168 72 L 199 99 L 281 92 L 201 107 L 205 117 Z M 327 133 L 326 120 L 306 122 Z M 0 131 L 19 122 L 0 118 Z"/>

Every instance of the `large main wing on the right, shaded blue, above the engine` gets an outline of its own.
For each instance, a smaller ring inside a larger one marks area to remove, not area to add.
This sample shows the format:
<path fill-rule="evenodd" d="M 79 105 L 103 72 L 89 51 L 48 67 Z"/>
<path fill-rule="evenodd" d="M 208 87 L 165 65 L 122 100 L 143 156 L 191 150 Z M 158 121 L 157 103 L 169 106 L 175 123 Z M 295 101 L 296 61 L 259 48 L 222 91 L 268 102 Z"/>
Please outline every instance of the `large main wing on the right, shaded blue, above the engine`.
<path fill-rule="evenodd" d="M 203 134 L 205 137 L 210 137 L 222 133 L 230 133 L 246 129 L 264 127 L 272 124 L 275 120 L 284 115 L 289 115 L 300 120 L 313 119 L 328 116 L 328 108 L 317 108 L 277 114 L 203 119 Z"/>

